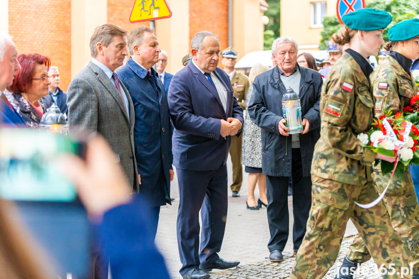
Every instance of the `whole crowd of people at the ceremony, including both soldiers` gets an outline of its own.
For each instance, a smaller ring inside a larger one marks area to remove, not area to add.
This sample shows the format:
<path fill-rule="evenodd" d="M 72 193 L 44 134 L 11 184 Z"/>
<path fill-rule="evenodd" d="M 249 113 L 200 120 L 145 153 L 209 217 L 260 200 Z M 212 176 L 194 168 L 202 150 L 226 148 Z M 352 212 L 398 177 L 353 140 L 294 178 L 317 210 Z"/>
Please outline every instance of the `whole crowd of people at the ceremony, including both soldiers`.
<path fill-rule="evenodd" d="M 391 15 L 361 9 L 342 20 L 344 28 L 328 43 L 330 66 L 318 71 L 314 57 L 298 54 L 297 42 L 284 36 L 272 44 L 274 66 L 256 64 L 249 78 L 235 70 L 236 51 L 220 51 L 213 33 L 196 33 L 184 68 L 171 75 L 165 71 L 168 53 L 152 29 L 127 33 L 103 24 L 90 40 L 92 60 L 67 92 L 59 88 L 59 69 L 48 57 L 18 54 L 12 38 L 1 34 L 0 122 L 36 129 L 55 104 L 67 117 L 70 134 L 100 135 L 88 144 L 84 160 L 63 159 L 65 174 L 95 216 L 100 240 L 92 248 L 95 278 L 107 278 L 108 265 L 113 278 L 168 278 L 153 242 L 160 206 L 171 204 L 173 166 L 179 183 L 181 276 L 209 279 L 212 269 L 237 266 L 238 261 L 218 255 L 226 226 L 229 154 L 233 197 L 240 196 L 244 164 L 247 208 L 267 208 L 272 262 L 284 260 L 291 184 L 296 258 L 290 278 L 323 278 L 349 219 L 359 234 L 336 278 L 352 278 L 370 258 L 387 270 L 412 265 L 410 278 L 419 278 L 419 204 L 409 168 L 403 179 L 382 175 L 380 164 L 373 167 L 376 159 L 394 162 L 394 157 L 374 153 L 357 139 L 374 117 L 389 109 L 402 112 L 418 93 L 410 69 L 419 58 L 419 19 L 389 29 L 389 52 L 375 69 L 367 59 L 384 44 Z M 283 115 L 282 96 L 289 89 L 300 98 L 301 133 L 290 134 Z M 376 199 L 389 181 L 383 201 L 369 209 L 355 204 Z M 5 226 L 11 224 L 7 210 L 1 201 Z M 4 238 L 17 243 L 13 232 Z M 0 254 L 23 263 L 31 251 L 18 250 L 0 249 Z M 48 273 L 34 257 L 29 261 L 26 268 L 8 263 L 9 278 L 29 278 L 24 274 L 31 269 L 32 278 Z"/>

